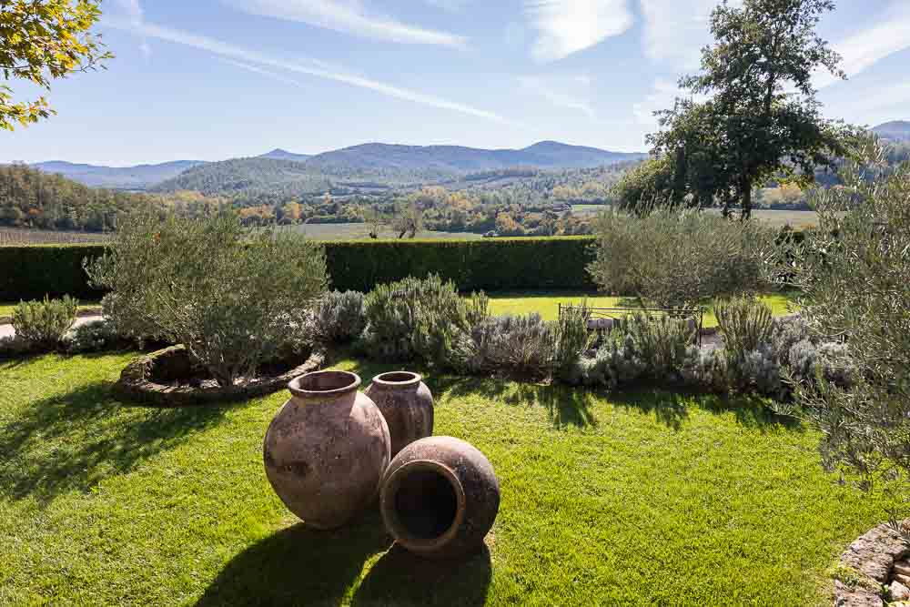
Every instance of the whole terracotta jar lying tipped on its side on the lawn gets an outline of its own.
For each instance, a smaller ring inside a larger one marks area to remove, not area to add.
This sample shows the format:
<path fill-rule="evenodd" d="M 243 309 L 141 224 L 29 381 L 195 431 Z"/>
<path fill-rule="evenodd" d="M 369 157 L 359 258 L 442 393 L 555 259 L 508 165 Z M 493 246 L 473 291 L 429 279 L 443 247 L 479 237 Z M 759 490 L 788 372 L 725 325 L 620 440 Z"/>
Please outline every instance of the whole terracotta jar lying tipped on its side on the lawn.
<path fill-rule="evenodd" d="M 379 510 L 386 529 L 402 547 L 428 558 L 479 550 L 499 509 L 490 460 L 464 440 L 416 440 L 382 479 Z"/>

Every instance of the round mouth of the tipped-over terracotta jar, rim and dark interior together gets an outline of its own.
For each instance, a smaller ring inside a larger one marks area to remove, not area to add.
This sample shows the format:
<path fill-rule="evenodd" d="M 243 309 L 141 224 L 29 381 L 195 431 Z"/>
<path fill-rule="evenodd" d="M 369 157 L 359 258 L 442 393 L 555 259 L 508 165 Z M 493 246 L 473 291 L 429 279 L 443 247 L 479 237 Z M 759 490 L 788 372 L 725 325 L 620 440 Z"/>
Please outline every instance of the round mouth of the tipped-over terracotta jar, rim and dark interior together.
<path fill-rule="evenodd" d="M 434 460 L 409 461 L 383 484 L 383 518 L 406 548 L 431 551 L 458 534 L 465 515 L 464 488 L 449 467 Z"/>

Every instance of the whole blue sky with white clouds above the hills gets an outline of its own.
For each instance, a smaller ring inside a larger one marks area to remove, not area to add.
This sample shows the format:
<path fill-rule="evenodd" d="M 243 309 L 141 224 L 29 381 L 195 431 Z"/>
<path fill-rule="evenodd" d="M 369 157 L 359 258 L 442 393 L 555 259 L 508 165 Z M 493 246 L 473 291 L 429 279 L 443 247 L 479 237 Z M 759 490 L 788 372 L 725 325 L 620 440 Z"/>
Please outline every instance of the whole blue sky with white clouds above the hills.
<path fill-rule="evenodd" d="M 716 3 L 105 0 L 99 31 L 116 58 L 57 81 L 58 116 L 0 133 L 0 162 L 125 166 L 368 141 L 644 150 Z M 850 80 L 818 76 L 825 114 L 910 119 L 910 1 L 837 4 L 820 29 Z"/>

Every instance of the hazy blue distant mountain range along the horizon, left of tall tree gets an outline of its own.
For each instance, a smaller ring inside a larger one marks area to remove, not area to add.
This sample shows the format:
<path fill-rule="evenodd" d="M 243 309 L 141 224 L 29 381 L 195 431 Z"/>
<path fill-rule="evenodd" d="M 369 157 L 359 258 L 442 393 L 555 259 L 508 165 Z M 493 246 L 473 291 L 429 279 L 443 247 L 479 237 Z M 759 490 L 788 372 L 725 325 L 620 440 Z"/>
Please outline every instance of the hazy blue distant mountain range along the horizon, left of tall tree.
<path fill-rule="evenodd" d="M 587 168 L 612 165 L 646 157 L 645 154 L 611 152 L 596 147 L 570 146 L 556 141 L 541 141 L 521 149 L 480 149 L 460 146 L 397 146 L 369 143 L 324 152 L 315 156 L 295 154 L 276 148 L 254 158 L 235 158 L 220 163 L 177 160 L 159 165 L 102 167 L 53 161 L 32 165 L 48 173 L 59 173 L 86 186 L 121 189 L 171 189 L 178 185 L 206 180 L 207 167 L 220 177 L 227 169 L 237 168 L 237 187 L 246 181 L 249 169 L 259 175 L 274 169 L 282 174 L 320 173 L 332 176 L 412 176 L 414 174 L 459 175 L 508 167 L 541 169 Z M 275 167 L 268 167 L 270 162 Z M 301 165 L 291 167 L 288 162 Z M 250 167 L 248 167 L 248 165 Z M 194 170 L 195 169 L 195 170 Z M 185 172 L 187 179 L 179 179 Z M 287 177 L 286 175 L 283 177 Z"/>

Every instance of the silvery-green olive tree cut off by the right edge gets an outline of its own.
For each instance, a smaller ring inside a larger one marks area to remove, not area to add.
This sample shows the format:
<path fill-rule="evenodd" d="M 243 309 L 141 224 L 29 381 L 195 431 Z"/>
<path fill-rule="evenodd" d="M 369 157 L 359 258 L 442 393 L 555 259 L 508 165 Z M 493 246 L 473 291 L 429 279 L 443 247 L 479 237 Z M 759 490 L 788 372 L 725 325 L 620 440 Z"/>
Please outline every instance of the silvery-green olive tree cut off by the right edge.
<path fill-rule="evenodd" d="M 910 164 L 888 167 L 868 142 L 844 187 L 812 197 L 819 226 L 799 248 L 802 316 L 818 339 L 845 344 L 849 386 L 796 382 L 797 402 L 823 431 L 829 467 L 870 481 L 910 471 Z M 895 474 L 896 473 L 896 474 Z"/>

